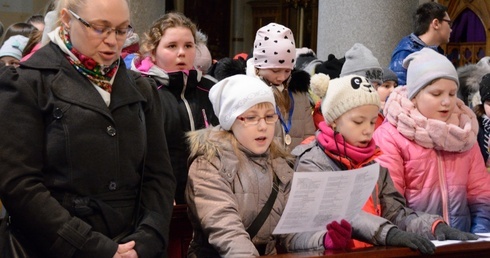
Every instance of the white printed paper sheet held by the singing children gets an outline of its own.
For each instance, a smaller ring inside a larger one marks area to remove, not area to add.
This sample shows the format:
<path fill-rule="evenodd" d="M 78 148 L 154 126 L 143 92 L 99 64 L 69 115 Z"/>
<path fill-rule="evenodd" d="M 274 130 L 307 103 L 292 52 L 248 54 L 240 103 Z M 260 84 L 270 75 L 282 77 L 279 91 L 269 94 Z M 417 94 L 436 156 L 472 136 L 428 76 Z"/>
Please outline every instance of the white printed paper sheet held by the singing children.
<path fill-rule="evenodd" d="M 374 190 L 379 164 L 349 171 L 295 172 L 286 208 L 273 234 L 324 230 L 355 219 Z"/>

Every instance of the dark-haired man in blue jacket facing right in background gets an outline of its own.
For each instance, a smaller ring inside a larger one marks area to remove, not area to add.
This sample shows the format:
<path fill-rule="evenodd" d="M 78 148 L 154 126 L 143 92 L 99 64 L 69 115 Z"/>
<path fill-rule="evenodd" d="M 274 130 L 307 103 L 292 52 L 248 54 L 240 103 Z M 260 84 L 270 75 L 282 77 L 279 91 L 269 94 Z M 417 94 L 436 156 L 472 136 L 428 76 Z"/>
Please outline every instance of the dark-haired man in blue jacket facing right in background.
<path fill-rule="evenodd" d="M 440 45 L 449 42 L 451 25 L 446 6 L 427 2 L 417 8 L 413 15 L 413 33 L 402 38 L 391 54 L 389 68 L 396 73 L 398 85 L 406 84 L 407 69 L 403 60 L 408 55 L 425 47 L 444 54 Z"/>

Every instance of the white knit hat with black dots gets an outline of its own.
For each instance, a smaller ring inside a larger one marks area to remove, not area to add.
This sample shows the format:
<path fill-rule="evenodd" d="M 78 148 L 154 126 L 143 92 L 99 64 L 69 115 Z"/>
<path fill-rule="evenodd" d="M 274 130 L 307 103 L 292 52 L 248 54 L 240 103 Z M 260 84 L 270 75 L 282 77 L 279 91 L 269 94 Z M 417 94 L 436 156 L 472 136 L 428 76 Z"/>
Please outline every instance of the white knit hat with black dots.
<path fill-rule="evenodd" d="M 296 60 L 293 32 L 277 23 L 260 28 L 255 35 L 253 56 L 257 68 L 293 69 Z"/>

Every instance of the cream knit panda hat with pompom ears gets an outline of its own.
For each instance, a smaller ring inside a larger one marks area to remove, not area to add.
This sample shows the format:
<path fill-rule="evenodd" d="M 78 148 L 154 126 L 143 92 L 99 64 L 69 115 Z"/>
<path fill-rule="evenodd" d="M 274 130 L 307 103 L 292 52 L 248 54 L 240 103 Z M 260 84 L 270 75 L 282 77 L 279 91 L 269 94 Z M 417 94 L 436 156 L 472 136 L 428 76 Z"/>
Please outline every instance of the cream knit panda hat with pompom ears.
<path fill-rule="evenodd" d="M 363 105 L 381 107 L 379 94 L 364 77 L 348 75 L 330 80 L 325 74 L 315 74 L 310 81 L 312 91 L 322 97 L 322 114 L 332 124 L 345 112 Z"/>

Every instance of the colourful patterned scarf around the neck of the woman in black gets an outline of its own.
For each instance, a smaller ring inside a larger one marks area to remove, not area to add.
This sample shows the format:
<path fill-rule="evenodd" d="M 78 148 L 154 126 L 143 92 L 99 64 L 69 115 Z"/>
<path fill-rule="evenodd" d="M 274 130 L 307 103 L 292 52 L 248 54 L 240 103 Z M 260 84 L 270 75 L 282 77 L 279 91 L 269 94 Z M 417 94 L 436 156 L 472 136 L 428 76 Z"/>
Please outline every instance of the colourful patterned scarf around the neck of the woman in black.
<path fill-rule="evenodd" d="M 92 83 L 111 93 L 111 79 L 117 72 L 119 67 L 119 59 L 110 66 L 101 65 L 94 59 L 83 55 L 77 49 L 75 49 L 71 44 L 70 35 L 64 28 L 60 29 L 59 36 L 65 43 L 66 48 L 68 48 L 68 50 L 76 57 L 73 58 L 70 55 L 66 55 L 66 58 L 73 65 L 73 67 L 87 77 L 87 79 L 89 79 Z"/>

